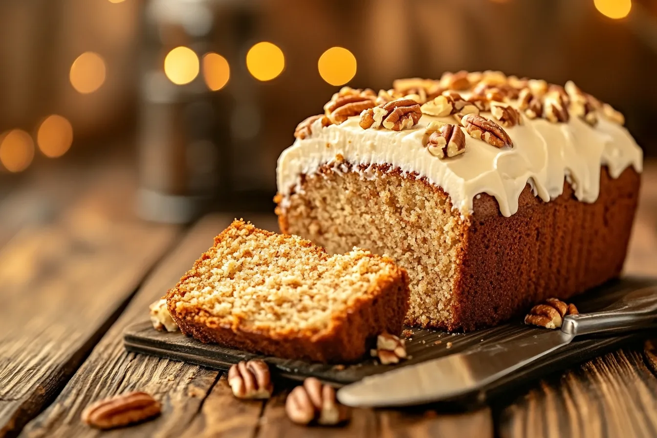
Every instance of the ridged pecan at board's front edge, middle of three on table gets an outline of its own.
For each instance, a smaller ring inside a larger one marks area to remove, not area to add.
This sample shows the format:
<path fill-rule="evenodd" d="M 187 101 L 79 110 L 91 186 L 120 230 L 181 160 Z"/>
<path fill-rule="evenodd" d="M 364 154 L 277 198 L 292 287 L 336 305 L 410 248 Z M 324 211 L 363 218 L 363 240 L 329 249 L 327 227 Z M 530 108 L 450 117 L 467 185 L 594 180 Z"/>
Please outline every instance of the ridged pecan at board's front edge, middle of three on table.
<path fill-rule="evenodd" d="M 269 399 L 274 390 L 269 366 L 263 361 L 241 361 L 228 370 L 228 384 L 238 399 Z"/>

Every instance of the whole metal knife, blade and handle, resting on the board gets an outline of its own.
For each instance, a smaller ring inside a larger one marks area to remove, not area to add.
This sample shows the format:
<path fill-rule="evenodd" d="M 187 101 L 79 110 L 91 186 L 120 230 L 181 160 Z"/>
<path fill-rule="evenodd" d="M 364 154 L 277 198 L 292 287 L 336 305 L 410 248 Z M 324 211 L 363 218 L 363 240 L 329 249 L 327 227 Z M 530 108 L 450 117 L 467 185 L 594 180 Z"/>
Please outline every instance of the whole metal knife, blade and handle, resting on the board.
<path fill-rule="evenodd" d="M 348 406 L 408 406 L 453 399 L 567 345 L 578 335 L 628 332 L 657 322 L 657 286 L 630 292 L 600 312 L 568 315 L 561 330 L 545 330 L 472 351 L 397 368 L 338 391 Z"/>

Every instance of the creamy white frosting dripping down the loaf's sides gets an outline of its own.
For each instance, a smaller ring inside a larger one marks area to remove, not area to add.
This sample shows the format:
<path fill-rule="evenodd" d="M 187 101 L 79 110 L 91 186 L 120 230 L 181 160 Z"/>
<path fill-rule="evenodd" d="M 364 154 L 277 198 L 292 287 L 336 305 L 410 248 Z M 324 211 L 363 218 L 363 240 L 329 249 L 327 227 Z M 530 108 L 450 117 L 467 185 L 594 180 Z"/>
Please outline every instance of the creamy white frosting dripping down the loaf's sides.
<path fill-rule="evenodd" d="M 482 116 L 495 118 L 489 113 Z M 321 165 L 335 162 L 340 154 L 346 162 L 390 164 L 403 173 L 417 172 L 419 177 L 449 194 L 452 205 L 462 215 L 472 213 L 472 200 L 479 193 L 495 196 L 500 211 L 510 216 L 518 211 L 518 197 L 529 183 L 535 196 L 548 202 L 558 197 L 564 179 L 574 188 L 582 202 L 595 202 L 600 189 L 600 165 L 607 165 L 613 178 L 630 165 L 641 172 L 643 152 L 627 129 L 602 115 L 595 127 L 576 116 L 568 123 L 529 120 L 504 128 L 513 147 L 495 148 L 466 133 L 464 154 L 440 159 L 422 146 L 422 136 L 430 121 L 455 123 L 449 116 L 436 118 L 426 114 L 411 129 L 363 129 L 359 117 L 351 117 L 340 125 L 311 126 L 312 134 L 297 140 L 279 157 L 277 183 L 286 208 L 292 190 L 298 192 L 300 175 L 311 175 Z M 335 162 L 334 170 L 348 167 Z M 371 169 L 360 171 L 363 179 L 376 177 Z"/>

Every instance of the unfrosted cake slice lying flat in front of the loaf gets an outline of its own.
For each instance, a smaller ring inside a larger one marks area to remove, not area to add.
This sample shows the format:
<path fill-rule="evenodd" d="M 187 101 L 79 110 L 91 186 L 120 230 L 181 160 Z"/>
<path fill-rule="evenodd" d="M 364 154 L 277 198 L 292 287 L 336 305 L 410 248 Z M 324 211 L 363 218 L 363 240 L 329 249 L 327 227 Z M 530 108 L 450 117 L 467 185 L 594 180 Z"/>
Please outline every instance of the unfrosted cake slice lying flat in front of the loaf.
<path fill-rule="evenodd" d="M 328 255 L 298 236 L 234 221 L 166 300 L 180 330 L 202 342 L 289 359 L 354 361 L 382 332 L 399 334 L 408 276 L 354 248 Z"/>

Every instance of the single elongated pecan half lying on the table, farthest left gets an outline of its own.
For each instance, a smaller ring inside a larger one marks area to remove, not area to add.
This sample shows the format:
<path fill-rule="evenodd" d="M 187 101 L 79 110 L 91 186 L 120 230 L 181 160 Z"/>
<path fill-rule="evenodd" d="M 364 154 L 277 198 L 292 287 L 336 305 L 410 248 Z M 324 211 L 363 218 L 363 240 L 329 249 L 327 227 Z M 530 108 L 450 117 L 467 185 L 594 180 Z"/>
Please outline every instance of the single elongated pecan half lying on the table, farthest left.
<path fill-rule="evenodd" d="M 127 426 L 160 414 L 160 403 L 144 392 L 131 392 L 93 403 L 82 412 L 82 421 L 99 429 Z"/>

